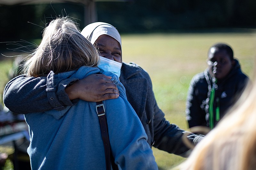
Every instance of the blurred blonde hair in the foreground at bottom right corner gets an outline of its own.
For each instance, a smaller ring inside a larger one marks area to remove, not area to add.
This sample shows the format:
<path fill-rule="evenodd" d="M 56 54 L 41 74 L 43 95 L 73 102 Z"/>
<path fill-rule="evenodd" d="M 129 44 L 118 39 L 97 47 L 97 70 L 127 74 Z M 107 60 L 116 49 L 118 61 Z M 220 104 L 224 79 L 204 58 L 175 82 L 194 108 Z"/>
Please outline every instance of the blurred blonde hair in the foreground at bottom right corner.
<path fill-rule="evenodd" d="M 219 124 L 196 145 L 181 170 L 253 170 L 256 167 L 256 78 Z"/>

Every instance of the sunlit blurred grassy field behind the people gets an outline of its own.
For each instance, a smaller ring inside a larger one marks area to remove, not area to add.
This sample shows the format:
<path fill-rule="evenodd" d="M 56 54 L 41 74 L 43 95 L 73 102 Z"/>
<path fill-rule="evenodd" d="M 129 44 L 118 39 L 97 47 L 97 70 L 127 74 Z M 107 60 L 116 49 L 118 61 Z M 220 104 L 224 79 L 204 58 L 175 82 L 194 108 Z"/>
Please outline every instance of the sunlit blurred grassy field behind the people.
<path fill-rule="evenodd" d="M 165 117 L 182 129 L 185 101 L 191 78 L 206 65 L 207 51 L 216 42 L 226 42 L 242 70 L 252 78 L 256 56 L 256 30 L 232 33 L 154 33 L 122 35 L 123 62 L 135 62 L 145 69 L 153 83 L 158 106 Z M 0 90 L 4 89 L 11 60 L 0 62 Z M 159 169 L 170 169 L 184 158 L 153 148 Z"/>

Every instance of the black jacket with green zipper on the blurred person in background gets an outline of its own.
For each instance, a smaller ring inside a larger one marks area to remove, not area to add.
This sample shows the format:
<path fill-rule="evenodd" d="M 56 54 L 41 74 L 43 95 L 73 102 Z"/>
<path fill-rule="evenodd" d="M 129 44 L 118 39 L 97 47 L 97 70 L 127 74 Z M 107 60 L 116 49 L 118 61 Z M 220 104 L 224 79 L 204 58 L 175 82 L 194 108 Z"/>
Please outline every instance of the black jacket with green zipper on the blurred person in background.
<path fill-rule="evenodd" d="M 223 80 L 218 80 L 212 105 L 214 126 L 218 123 L 218 120 L 216 120 L 216 108 L 219 106 L 221 119 L 227 109 L 238 99 L 248 80 L 249 78 L 241 71 L 240 64 L 237 60 L 235 60 L 235 66 L 228 76 Z M 212 77 L 209 75 L 208 68 L 192 78 L 186 102 L 186 118 L 189 128 L 194 126 L 209 127 L 209 100 L 211 88 Z"/>

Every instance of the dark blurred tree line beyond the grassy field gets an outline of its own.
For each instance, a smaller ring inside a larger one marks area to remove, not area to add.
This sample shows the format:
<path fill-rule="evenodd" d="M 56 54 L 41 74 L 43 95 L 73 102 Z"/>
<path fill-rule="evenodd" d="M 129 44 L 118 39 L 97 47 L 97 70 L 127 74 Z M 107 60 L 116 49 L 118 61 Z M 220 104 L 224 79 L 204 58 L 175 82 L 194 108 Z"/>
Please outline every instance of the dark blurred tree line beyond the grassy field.
<path fill-rule="evenodd" d="M 133 0 L 96 2 L 96 7 L 98 21 L 120 33 L 256 27 L 255 0 Z M 84 28 L 82 4 L 0 6 L 0 42 L 41 39 L 50 20 L 66 15 Z"/>

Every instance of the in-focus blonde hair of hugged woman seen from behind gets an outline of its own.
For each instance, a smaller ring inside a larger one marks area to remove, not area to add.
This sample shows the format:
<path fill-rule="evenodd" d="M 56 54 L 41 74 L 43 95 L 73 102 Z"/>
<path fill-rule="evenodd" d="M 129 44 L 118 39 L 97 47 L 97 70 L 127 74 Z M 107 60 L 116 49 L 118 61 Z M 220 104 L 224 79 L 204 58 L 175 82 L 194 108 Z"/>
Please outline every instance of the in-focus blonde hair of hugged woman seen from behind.
<path fill-rule="evenodd" d="M 77 70 L 81 66 L 96 67 L 99 55 L 96 48 L 77 29 L 68 17 L 57 18 L 44 29 L 43 38 L 25 64 L 28 76 L 46 76 Z"/>

